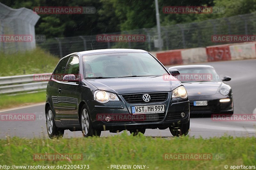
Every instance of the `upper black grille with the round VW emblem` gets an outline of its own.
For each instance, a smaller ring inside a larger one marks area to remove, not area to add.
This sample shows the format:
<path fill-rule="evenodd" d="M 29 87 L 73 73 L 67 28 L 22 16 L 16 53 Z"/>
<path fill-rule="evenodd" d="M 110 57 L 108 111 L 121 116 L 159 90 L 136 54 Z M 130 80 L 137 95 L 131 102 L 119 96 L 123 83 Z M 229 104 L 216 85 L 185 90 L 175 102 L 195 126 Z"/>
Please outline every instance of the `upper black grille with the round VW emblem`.
<path fill-rule="evenodd" d="M 142 100 L 143 94 L 149 94 L 149 96 L 151 97 L 149 102 L 144 102 Z M 157 103 L 166 101 L 168 98 L 168 93 L 139 93 L 122 96 L 124 97 L 124 100 L 128 103 Z"/>

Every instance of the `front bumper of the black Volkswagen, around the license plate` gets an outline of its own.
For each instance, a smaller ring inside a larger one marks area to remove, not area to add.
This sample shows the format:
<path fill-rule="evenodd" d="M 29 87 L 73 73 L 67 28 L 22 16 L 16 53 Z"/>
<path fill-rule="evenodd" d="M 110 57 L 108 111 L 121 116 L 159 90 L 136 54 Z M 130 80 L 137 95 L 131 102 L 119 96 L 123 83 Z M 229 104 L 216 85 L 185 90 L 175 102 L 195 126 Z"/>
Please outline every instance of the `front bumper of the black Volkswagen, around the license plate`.
<path fill-rule="evenodd" d="M 166 129 L 173 124 L 185 124 L 189 121 L 189 101 L 187 99 L 172 100 L 171 92 L 168 92 L 168 98 L 164 102 L 159 103 L 127 103 L 124 98 L 119 95 L 120 101 L 98 103 L 92 101 L 89 105 L 91 113 L 92 125 L 94 129 L 99 130 L 132 130 L 132 129 Z M 164 113 L 146 114 L 140 120 L 134 118 L 132 115 L 132 106 L 146 106 L 146 105 L 164 105 Z M 183 113 L 184 117 L 181 117 Z M 127 119 L 111 120 L 107 122 L 104 118 L 99 118 L 99 115 L 105 117 L 127 117 Z"/>

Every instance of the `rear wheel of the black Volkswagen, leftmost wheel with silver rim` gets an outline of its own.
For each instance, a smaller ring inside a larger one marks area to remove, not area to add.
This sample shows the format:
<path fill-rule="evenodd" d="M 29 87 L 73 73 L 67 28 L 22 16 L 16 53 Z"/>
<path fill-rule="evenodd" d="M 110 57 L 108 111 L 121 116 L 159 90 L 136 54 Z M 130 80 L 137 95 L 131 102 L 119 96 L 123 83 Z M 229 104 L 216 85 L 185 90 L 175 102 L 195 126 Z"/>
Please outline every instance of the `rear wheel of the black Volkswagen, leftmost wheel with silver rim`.
<path fill-rule="evenodd" d="M 52 109 L 49 106 L 46 112 L 46 128 L 49 138 L 62 138 L 64 135 L 64 129 L 60 129 L 56 126 Z"/>

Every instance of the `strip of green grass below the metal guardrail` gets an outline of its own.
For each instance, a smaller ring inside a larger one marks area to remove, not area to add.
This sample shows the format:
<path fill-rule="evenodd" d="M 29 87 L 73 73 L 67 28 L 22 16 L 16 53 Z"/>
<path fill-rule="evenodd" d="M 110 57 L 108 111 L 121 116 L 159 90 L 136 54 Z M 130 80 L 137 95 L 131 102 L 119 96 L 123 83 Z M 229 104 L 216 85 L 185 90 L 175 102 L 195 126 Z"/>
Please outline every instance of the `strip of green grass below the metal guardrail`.
<path fill-rule="evenodd" d="M 16 96 L 0 95 L 0 109 L 16 107 L 28 103 L 45 102 L 46 92 L 20 94 Z"/>

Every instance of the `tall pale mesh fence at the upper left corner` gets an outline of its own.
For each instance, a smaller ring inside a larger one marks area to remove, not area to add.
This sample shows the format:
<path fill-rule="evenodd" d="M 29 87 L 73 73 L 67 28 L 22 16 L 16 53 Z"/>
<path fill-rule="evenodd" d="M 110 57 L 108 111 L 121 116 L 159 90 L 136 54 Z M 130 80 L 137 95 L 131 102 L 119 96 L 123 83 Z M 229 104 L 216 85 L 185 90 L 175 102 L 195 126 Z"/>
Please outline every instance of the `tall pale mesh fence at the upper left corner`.
<path fill-rule="evenodd" d="M 15 53 L 36 47 L 35 25 L 40 17 L 27 8 L 0 3 L 0 52 Z"/>

